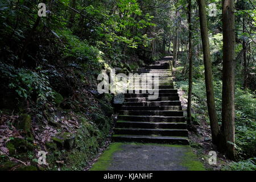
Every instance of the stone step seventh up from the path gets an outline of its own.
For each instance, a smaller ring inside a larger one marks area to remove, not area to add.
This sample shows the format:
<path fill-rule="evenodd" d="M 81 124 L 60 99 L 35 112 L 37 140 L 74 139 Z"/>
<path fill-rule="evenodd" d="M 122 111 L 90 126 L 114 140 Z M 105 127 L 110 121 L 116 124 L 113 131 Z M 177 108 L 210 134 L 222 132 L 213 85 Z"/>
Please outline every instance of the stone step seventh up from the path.
<path fill-rule="evenodd" d="M 181 106 L 180 101 L 125 102 L 125 106 Z"/>

